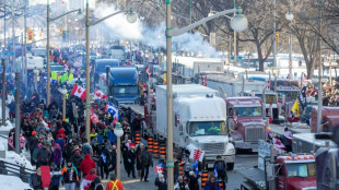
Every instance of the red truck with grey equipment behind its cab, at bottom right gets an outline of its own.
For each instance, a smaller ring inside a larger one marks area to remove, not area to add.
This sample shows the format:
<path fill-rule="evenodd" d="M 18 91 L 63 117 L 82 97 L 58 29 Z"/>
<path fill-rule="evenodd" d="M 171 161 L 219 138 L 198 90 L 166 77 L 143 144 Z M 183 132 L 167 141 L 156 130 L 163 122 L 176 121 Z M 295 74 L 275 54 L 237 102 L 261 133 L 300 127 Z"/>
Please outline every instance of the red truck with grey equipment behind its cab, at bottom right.
<path fill-rule="evenodd" d="M 262 157 L 262 168 L 237 168 L 237 173 L 245 178 L 242 190 L 316 190 L 316 165 L 313 154 L 279 153 L 272 144 L 262 142 L 259 155 Z M 273 147 L 271 147 L 273 146 Z M 270 154 L 274 151 L 273 159 Z M 264 152 L 264 153 L 262 153 Z M 266 154 L 268 153 L 268 154 Z M 259 161 L 259 159 L 258 159 Z M 272 181 L 272 182 L 269 182 Z"/>

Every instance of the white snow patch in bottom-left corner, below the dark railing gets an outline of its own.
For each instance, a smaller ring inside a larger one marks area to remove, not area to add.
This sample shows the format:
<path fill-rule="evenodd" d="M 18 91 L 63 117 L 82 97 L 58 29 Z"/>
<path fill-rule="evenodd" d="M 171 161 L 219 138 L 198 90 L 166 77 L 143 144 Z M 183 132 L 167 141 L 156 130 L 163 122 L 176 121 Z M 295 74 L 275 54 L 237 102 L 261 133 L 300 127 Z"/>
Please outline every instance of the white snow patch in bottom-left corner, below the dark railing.
<path fill-rule="evenodd" d="M 25 190 L 32 189 L 28 183 L 23 182 L 19 177 L 0 175 L 1 190 Z"/>

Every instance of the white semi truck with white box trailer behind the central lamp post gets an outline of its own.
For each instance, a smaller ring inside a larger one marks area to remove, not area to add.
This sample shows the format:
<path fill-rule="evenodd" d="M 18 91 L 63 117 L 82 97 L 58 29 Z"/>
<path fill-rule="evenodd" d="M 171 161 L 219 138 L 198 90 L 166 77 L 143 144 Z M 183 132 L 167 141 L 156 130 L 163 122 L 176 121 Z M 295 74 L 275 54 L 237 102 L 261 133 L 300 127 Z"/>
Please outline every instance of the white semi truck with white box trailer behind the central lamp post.
<path fill-rule="evenodd" d="M 165 85 L 155 86 L 156 121 L 153 132 L 159 140 L 167 136 L 167 92 Z M 235 151 L 229 139 L 225 124 L 225 102 L 218 97 L 215 90 L 198 84 L 173 85 L 173 136 L 177 147 L 191 153 L 204 151 L 202 167 L 213 166 L 215 157 L 221 155 L 227 168 L 233 169 Z M 147 117 L 147 116 L 145 116 Z"/>

